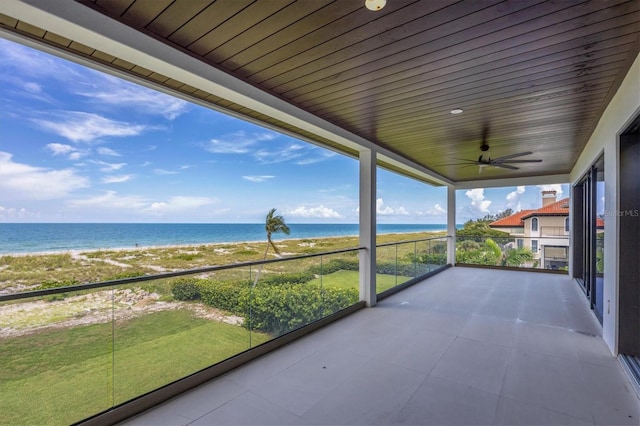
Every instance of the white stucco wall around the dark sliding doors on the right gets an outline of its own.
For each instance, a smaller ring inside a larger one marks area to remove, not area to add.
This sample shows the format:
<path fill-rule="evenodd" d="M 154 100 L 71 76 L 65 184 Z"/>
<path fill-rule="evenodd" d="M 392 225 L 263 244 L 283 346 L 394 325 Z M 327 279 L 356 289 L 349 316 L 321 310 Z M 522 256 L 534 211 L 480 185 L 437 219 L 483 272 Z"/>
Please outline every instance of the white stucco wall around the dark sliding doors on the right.
<path fill-rule="evenodd" d="M 620 133 L 640 113 L 640 55 L 600 118 L 585 149 L 570 174 L 575 184 L 604 152 L 605 212 L 619 210 L 618 187 Z M 618 219 L 607 215 L 604 239 L 603 337 L 613 354 L 618 353 Z"/>

